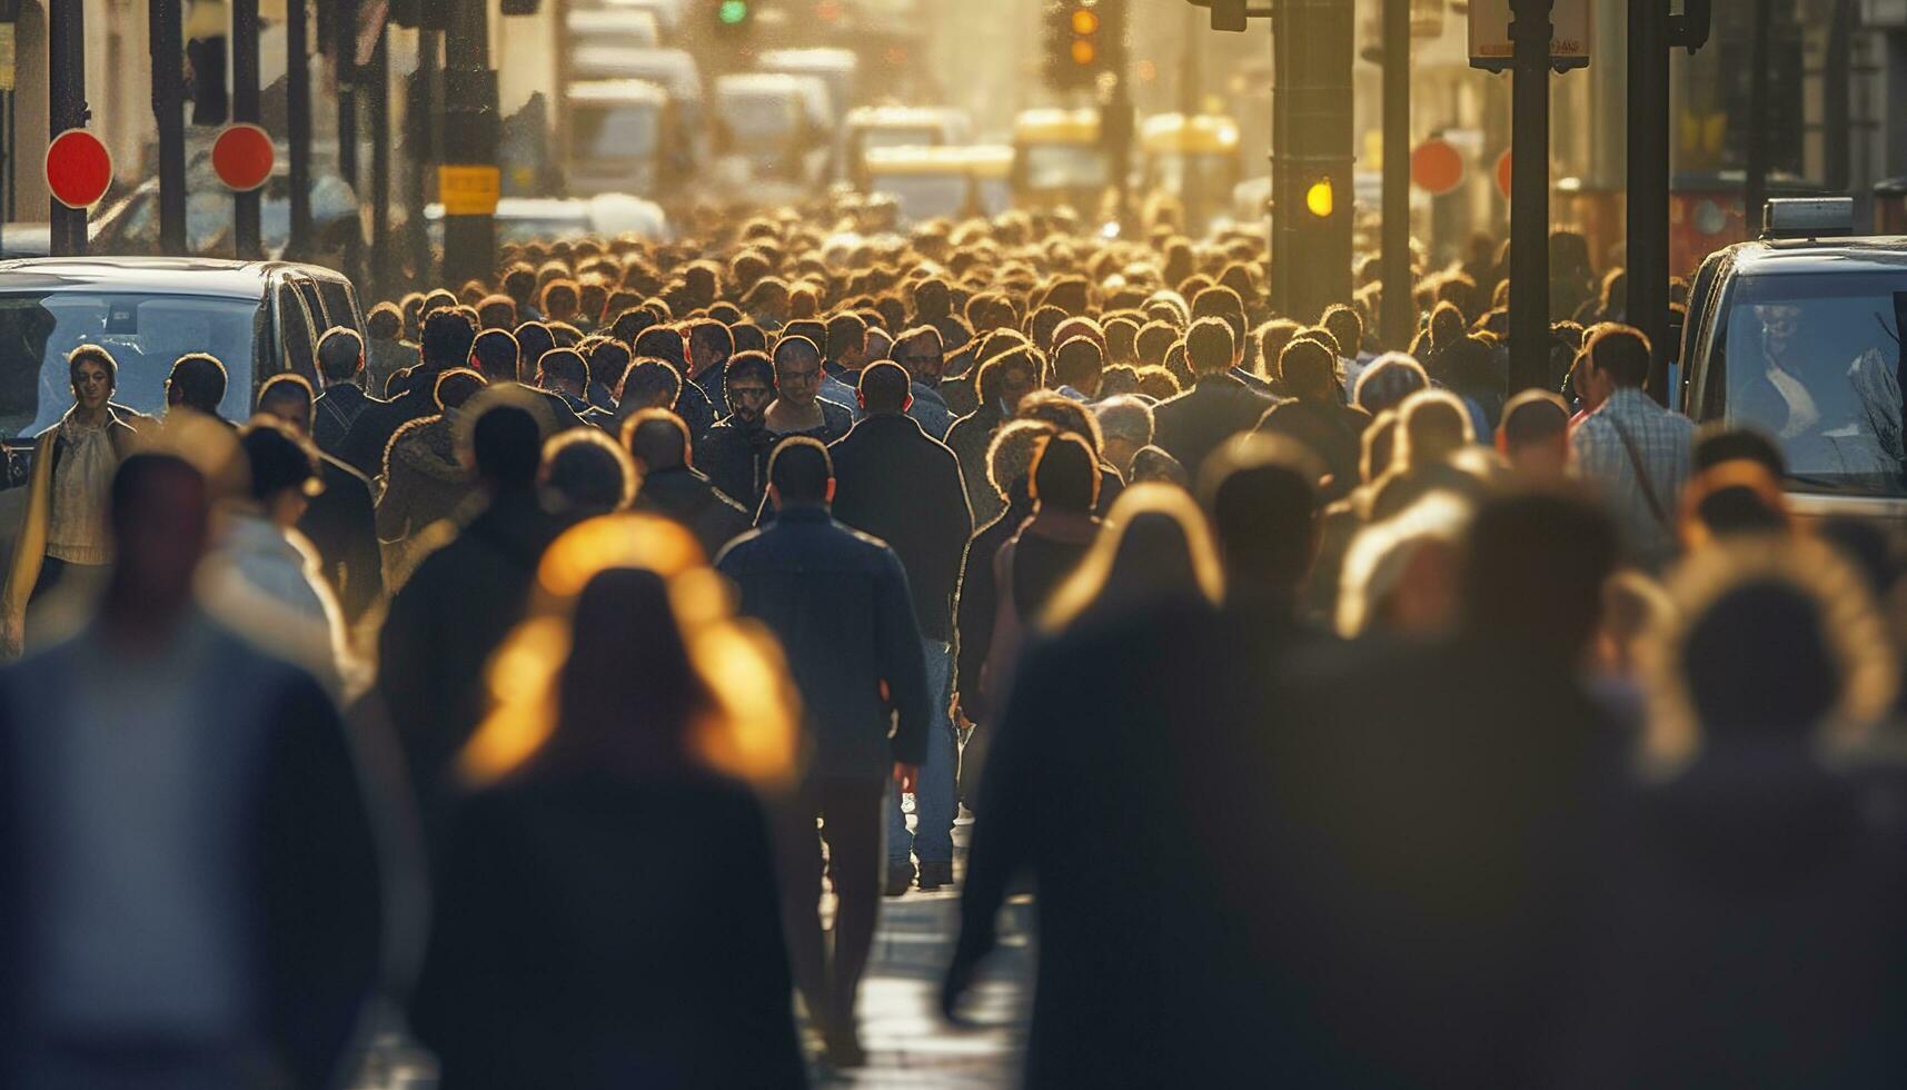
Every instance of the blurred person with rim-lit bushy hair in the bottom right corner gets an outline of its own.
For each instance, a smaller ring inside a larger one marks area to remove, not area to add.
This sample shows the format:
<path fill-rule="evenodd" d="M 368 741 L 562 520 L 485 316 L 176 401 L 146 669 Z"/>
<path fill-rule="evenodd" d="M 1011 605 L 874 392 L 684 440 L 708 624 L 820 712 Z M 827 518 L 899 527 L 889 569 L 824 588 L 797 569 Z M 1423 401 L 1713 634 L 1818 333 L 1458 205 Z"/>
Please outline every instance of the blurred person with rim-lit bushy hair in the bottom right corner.
<path fill-rule="evenodd" d="M 1863 760 L 1884 624 L 1808 540 L 1707 546 L 1669 594 L 1571 1084 L 1899 1086 L 1907 779 Z"/>

